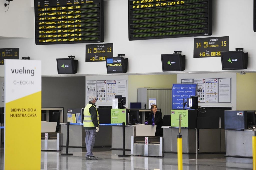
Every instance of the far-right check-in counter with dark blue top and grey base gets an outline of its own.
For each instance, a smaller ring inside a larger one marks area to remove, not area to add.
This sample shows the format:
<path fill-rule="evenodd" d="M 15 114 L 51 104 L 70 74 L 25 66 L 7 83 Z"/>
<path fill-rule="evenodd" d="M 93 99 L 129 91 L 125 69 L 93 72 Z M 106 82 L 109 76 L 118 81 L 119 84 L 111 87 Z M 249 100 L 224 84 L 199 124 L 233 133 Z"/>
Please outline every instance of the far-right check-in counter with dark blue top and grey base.
<path fill-rule="evenodd" d="M 248 111 L 225 111 L 226 161 L 252 163 L 252 136 L 255 129 L 248 127 Z M 254 113 L 253 113 L 254 114 Z M 255 115 L 254 115 L 255 119 Z"/>

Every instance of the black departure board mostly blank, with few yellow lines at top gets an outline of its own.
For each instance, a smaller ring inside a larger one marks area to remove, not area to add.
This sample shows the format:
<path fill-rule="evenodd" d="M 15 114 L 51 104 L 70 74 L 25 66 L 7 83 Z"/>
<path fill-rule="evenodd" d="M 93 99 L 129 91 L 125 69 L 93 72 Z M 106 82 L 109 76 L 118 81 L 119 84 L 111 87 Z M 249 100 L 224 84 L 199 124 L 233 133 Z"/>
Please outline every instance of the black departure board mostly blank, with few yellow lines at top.
<path fill-rule="evenodd" d="M 212 0 L 129 0 L 129 40 L 210 35 Z"/>

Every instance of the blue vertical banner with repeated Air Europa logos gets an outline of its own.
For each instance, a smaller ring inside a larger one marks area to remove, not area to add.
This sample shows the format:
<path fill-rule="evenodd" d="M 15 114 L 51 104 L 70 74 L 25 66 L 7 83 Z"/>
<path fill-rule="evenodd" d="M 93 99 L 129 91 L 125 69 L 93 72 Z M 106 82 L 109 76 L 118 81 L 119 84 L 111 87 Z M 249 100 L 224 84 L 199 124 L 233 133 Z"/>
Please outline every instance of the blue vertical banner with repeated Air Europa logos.
<path fill-rule="evenodd" d="M 196 84 L 173 84 L 173 109 L 183 109 L 183 98 L 187 102 L 187 98 L 196 95 Z M 185 106 L 187 109 L 187 105 Z"/>

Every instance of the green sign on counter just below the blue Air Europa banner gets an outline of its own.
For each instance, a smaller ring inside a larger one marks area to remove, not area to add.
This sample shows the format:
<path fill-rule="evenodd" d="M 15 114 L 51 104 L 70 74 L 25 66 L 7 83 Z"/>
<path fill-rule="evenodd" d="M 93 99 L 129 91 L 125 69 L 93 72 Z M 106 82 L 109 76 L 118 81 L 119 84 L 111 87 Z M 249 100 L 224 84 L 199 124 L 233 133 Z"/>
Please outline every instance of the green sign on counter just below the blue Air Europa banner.
<path fill-rule="evenodd" d="M 181 114 L 181 127 L 188 127 L 188 110 L 171 110 L 171 126 L 179 127 L 179 115 Z"/>

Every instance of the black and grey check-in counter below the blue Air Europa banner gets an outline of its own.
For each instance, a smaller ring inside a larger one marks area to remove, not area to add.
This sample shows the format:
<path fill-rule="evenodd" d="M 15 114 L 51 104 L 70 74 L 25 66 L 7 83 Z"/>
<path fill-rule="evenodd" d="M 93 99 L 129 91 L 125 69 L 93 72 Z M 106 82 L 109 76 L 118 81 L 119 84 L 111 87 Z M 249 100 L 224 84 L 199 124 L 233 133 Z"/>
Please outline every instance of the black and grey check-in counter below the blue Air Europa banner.
<path fill-rule="evenodd" d="M 188 110 L 185 114 L 188 125 L 181 130 L 183 158 L 224 157 L 224 110 L 200 111 Z M 164 156 L 177 158 L 178 122 L 171 122 L 171 126 L 163 126 Z"/>

